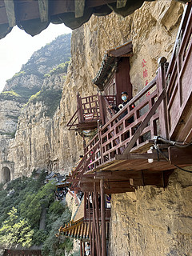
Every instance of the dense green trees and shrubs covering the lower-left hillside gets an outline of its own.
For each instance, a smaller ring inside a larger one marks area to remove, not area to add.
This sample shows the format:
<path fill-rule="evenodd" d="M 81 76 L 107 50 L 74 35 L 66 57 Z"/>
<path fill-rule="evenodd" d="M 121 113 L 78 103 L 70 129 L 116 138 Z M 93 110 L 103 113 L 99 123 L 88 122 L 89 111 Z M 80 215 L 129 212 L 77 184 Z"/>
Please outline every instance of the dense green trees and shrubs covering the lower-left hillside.
<path fill-rule="evenodd" d="M 38 179 L 17 178 L 0 191 L 0 246 L 20 244 L 43 245 L 45 256 L 62 256 L 73 243 L 56 238 L 60 226 L 70 221 L 70 210 L 62 202 L 54 202 L 54 183 L 44 185 L 45 172 Z M 10 190 L 14 194 L 7 196 Z M 42 210 L 46 208 L 46 228 L 39 230 Z"/>

